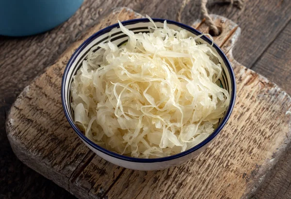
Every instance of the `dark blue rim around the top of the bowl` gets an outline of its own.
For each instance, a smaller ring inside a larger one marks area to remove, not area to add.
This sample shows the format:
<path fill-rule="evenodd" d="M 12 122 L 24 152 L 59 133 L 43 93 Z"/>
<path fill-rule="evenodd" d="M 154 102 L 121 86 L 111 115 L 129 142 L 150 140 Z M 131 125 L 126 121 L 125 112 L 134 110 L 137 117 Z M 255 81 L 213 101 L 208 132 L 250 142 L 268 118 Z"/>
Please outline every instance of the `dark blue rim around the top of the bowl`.
<path fill-rule="evenodd" d="M 200 35 L 202 34 L 201 32 L 195 30 L 194 28 L 187 26 L 185 24 L 181 24 L 179 22 L 176 21 L 172 21 L 172 20 L 167 20 L 167 19 L 161 19 L 161 18 L 152 18 L 154 22 L 162 22 L 164 20 L 167 21 L 168 24 L 174 24 L 177 25 L 187 31 L 190 31 L 192 33 L 194 33 L 195 35 Z M 139 23 L 139 22 L 149 22 L 149 19 L 147 18 L 141 18 L 141 19 L 131 19 L 128 21 L 123 21 L 121 22 L 123 25 L 130 25 L 130 24 L 135 24 L 135 23 Z M 171 156 L 167 156 L 167 157 L 161 157 L 161 158 L 136 158 L 136 157 L 129 157 L 129 156 L 125 156 L 125 155 L 121 155 L 118 153 L 114 153 L 112 151 L 109 151 L 107 149 L 104 149 L 100 146 L 98 146 L 97 144 L 95 144 L 94 142 L 92 142 L 89 138 L 85 137 L 85 135 L 79 130 L 79 128 L 76 126 L 76 124 L 73 122 L 73 120 L 69 117 L 69 113 L 66 109 L 65 106 L 65 79 L 67 77 L 67 73 L 71 67 L 71 64 L 76 60 L 77 56 L 79 55 L 79 53 L 88 45 L 90 44 L 93 40 L 95 40 L 98 36 L 107 33 L 109 31 L 111 31 L 113 28 L 119 28 L 118 23 L 113 24 L 111 26 L 108 26 L 107 28 L 104 28 L 100 31 L 97 31 L 96 33 L 94 33 L 92 36 L 90 36 L 88 39 L 86 39 L 81 46 L 79 46 L 77 48 L 77 50 L 74 52 L 74 54 L 72 55 L 72 57 L 70 58 L 70 60 L 68 61 L 66 67 L 65 67 L 65 71 L 64 71 L 64 75 L 63 75 L 63 79 L 62 79 L 62 91 L 61 91 L 61 97 L 62 97 L 62 105 L 63 105 L 63 109 L 65 112 L 65 117 L 68 120 L 69 124 L 72 126 L 72 128 L 74 129 L 74 131 L 78 134 L 78 136 L 83 139 L 83 141 L 85 141 L 87 144 L 89 144 L 92 148 L 96 149 L 97 151 L 100 151 L 101 153 L 105 153 L 111 157 L 120 159 L 120 160 L 125 160 L 125 161 L 129 161 L 129 162 L 138 162 L 138 163 L 154 163 L 154 162 L 164 162 L 164 161 L 169 161 L 169 160 L 173 160 L 173 159 L 177 159 L 180 158 L 182 156 L 188 155 L 190 153 L 193 153 L 195 151 L 197 151 L 198 149 L 200 149 L 201 147 L 203 147 L 204 145 L 206 145 L 207 143 L 209 143 L 213 138 L 215 138 L 215 136 L 217 136 L 217 134 L 223 129 L 223 127 L 226 125 L 226 122 L 228 121 L 230 114 L 233 110 L 234 107 L 234 103 L 235 103 L 235 98 L 236 98 L 236 82 L 235 82 L 235 75 L 233 72 L 233 69 L 231 67 L 230 62 L 228 61 L 228 59 L 226 58 L 226 55 L 224 54 L 224 52 L 220 49 L 219 46 L 217 46 L 214 42 L 213 42 L 213 47 L 217 50 L 218 54 L 221 56 L 222 60 L 225 62 L 226 64 L 226 68 L 229 72 L 229 76 L 230 76 L 230 80 L 231 80 L 231 89 L 232 89 L 232 94 L 230 96 L 230 103 L 229 106 L 226 110 L 226 115 L 223 118 L 223 121 L 221 122 L 221 124 L 213 131 L 213 133 L 206 138 L 205 140 L 203 140 L 202 142 L 200 142 L 199 144 L 197 144 L 196 146 L 194 146 L 193 148 L 185 151 L 185 152 L 181 152 L 175 155 L 171 155 Z M 205 35 L 203 35 L 201 37 L 204 41 L 208 42 L 210 45 L 212 44 L 212 41 L 206 37 Z M 70 103 L 70 102 L 69 102 Z"/>

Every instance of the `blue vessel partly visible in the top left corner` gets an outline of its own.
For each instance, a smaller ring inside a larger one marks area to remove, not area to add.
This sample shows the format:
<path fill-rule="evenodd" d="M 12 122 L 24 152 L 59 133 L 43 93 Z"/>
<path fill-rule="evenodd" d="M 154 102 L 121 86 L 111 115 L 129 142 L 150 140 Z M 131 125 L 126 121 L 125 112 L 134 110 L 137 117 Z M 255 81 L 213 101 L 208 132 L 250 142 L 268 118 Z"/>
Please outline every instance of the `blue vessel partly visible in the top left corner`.
<path fill-rule="evenodd" d="M 83 0 L 0 0 L 0 35 L 27 36 L 63 23 Z"/>

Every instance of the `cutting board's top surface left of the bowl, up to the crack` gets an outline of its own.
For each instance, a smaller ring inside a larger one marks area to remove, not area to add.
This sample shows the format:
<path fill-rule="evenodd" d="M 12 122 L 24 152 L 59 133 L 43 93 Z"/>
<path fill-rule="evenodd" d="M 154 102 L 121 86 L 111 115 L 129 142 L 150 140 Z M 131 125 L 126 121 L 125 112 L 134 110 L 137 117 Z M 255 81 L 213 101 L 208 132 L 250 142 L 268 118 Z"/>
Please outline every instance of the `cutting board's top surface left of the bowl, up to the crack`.
<path fill-rule="evenodd" d="M 12 149 L 19 152 L 17 157 L 34 170 L 44 169 L 42 172 L 44 176 L 54 182 L 62 182 L 58 184 L 67 190 L 73 171 L 78 166 L 82 166 L 90 150 L 75 135 L 63 114 L 60 91 L 65 64 L 84 38 L 89 37 L 92 32 L 109 26 L 113 20 L 111 17 L 116 21 L 119 15 L 120 13 L 110 15 L 84 34 L 63 53 L 61 59 L 45 73 L 46 75 L 40 76 L 25 88 L 18 96 L 20 100 L 16 100 L 11 109 L 11 112 L 17 112 L 19 116 L 16 121 L 10 120 L 9 124 L 13 128 L 7 128 L 8 138 L 16 136 L 16 142 L 10 143 Z M 137 17 L 135 13 L 124 10 L 123 20 L 134 17 Z M 37 98 L 33 99 L 33 95 Z M 25 115 L 29 116 L 25 117 Z M 35 118 L 37 121 L 34 121 Z M 26 125 L 18 125 L 20 123 Z M 30 137 L 26 137 L 29 129 L 32 132 Z M 35 161 L 42 164 L 35 164 Z"/>

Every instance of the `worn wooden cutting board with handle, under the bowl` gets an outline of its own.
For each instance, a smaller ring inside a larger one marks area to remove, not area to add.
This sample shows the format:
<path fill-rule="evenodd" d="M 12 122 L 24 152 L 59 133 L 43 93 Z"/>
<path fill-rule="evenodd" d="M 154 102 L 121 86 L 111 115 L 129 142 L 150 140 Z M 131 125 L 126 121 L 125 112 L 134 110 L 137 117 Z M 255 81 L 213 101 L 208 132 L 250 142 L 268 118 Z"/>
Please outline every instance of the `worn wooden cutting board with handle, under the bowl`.
<path fill-rule="evenodd" d="M 120 168 L 91 152 L 66 121 L 61 80 L 70 56 L 86 38 L 117 19 L 141 17 L 127 8 L 113 11 L 24 89 L 6 123 L 16 156 L 81 199 L 252 197 L 290 145 L 291 98 L 233 59 L 240 28 L 222 16 L 212 15 L 222 30 L 214 40 L 234 68 L 237 100 L 224 130 L 195 159 L 159 171 Z M 203 21 L 193 27 L 208 32 Z"/>

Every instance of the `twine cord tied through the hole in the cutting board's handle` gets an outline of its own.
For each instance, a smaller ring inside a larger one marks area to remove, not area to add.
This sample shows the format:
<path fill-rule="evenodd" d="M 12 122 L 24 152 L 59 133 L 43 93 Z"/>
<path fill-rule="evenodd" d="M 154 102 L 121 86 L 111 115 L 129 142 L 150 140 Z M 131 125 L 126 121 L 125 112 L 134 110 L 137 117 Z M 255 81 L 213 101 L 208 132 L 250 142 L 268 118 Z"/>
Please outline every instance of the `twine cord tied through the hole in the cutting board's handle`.
<path fill-rule="evenodd" d="M 220 31 L 207 12 L 207 8 L 206 8 L 207 1 L 208 0 L 201 0 L 201 13 L 202 13 L 202 16 L 205 18 L 205 23 L 209 26 L 209 31 L 213 32 L 213 36 L 217 36 L 220 34 Z M 242 9 L 243 7 L 243 0 L 222 0 L 222 1 L 229 3 L 231 5 L 235 5 L 239 9 Z"/>

